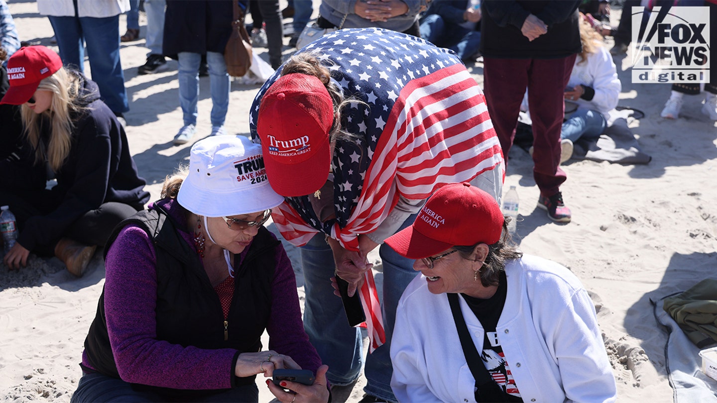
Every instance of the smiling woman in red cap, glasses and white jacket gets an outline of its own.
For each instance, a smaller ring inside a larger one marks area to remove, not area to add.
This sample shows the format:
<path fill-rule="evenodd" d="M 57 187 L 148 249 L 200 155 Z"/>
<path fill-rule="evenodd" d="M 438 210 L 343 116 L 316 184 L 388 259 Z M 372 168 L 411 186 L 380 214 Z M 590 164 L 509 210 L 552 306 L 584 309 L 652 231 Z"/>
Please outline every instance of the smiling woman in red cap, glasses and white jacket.
<path fill-rule="evenodd" d="M 391 339 L 399 402 L 612 402 L 612 367 L 587 291 L 523 255 L 498 203 L 470 184 L 435 192 L 386 239 L 422 275 Z"/>

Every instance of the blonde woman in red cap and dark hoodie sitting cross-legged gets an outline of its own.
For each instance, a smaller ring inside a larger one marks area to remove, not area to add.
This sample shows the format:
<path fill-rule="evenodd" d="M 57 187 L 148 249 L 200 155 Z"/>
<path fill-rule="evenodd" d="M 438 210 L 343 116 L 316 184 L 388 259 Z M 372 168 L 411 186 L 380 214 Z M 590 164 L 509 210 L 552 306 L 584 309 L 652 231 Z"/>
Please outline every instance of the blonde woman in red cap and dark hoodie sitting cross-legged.
<path fill-rule="evenodd" d="M 44 46 L 19 49 L 7 72 L 10 87 L 0 104 L 22 105 L 22 147 L 31 151 L 18 155 L 34 161 L 22 161 L 27 171 L 0 176 L 0 205 L 9 205 L 20 230 L 3 262 L 19 269 L 30 252 L 54 254 L 81 276 L 113 227 L 143 209 L 146 182 L 95 82 L 62 67 Z M 57 179 L 49 190 L 48 179 Z"/>

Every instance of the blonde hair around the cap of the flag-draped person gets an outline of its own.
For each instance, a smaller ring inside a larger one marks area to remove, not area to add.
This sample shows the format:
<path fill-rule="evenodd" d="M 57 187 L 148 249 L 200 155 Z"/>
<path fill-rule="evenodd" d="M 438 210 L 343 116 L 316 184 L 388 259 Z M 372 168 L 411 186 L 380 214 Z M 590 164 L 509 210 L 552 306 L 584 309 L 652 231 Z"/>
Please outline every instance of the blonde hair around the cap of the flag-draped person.
<path fill-rule="evenodd" d="M 341 89 L 331 82 L 331 71 L 328 70 L 328 67 L 321 64 L 318 55 L 319 52 L 317 51 L 294 54 L 284 65 L 284 68 L 281 70 L 281 75 L 293 73 L 313 75 L 323 82 L 323 85 L 328 91 L 328 95 L 331 95 L 331 100 L 333 101 L 333 123 L 331 124 L 331 130 L 328 131 L 331 143 L 336 143 L 338 139 L 355 141 L 356 138 L 359 138 L 358 136 L 353 133 L 348 133 L 348 131 L 344 131 L 343 128 L 341 128 L 341 113 L 343 112 L 343 108 L 346 108 L 346 106 L 352 103 L 366 103 L 358 98 L 344 98 Z"/>

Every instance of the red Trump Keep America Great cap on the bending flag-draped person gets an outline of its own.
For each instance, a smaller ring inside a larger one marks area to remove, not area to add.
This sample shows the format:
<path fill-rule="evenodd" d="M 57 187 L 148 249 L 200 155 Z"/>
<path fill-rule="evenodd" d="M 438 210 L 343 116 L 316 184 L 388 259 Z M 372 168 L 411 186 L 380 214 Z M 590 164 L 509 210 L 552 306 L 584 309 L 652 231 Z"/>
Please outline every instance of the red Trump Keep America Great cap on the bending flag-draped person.
<path fill-rule="evenodd" d="M 321 189 L 331 169 L 328 132 L 333 101 L 317 77 L 289 74 L 267 90 L 259 108 L 269 184 L 282 196 L 304 196 Z"/>

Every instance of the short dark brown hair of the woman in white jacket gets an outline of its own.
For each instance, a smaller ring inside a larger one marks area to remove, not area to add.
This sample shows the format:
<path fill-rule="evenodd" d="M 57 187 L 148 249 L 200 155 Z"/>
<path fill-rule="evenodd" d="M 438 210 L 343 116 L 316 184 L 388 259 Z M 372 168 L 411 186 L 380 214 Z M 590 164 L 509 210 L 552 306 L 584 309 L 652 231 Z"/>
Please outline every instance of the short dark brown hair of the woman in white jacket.
<path fill-rule="evenodd" d="M 520 259 L 523 252 L 518 250 L 518 245 L 513 242 L 511 233 L 508 232 L 508 222 L 511 217 L 505 217 L 503 222 L 503 233 L 500 234 L 500 240 L 493 245 L 488 245 L 488 256 L 485 257 L 483 267 L 480 267 L 480 284 L 483 287 L 498 285 L 500 280 L 500 272 L 505 271 L 505 261 L 511 259 Z M 471 255 L 475 247 L 484 242 L 478 242 L 475 245 L 457 245 L 453 249 L 457 250 L 463 259 L 473 260 Z"/>

